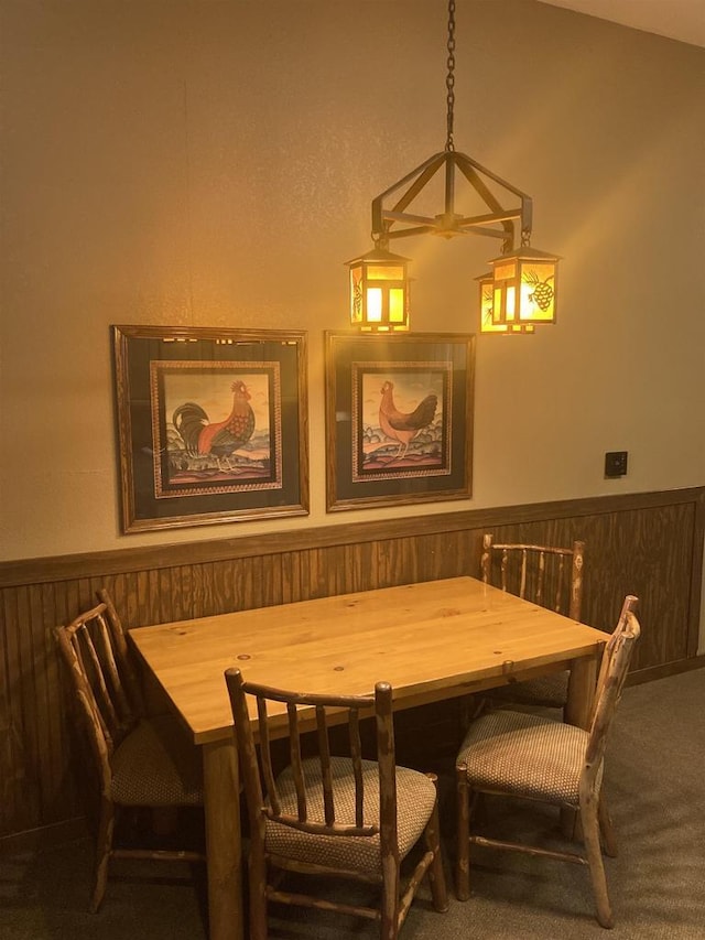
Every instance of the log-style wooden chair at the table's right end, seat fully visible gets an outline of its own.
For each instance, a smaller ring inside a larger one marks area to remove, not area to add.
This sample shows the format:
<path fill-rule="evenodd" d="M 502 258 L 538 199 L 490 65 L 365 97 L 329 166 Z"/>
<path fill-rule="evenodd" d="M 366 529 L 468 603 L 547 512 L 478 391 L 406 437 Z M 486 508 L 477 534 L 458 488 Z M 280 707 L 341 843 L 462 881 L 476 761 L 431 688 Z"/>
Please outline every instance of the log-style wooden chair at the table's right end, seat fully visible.
<path fill-rule="evenodd" d="M 589 866 L 597 920 L 612 927 L 601 844 L 617 855 L 617 842 L 601 792 L 607 733 L 621 696 L 639 623 L 637 598 L 628 595 L 607 642 L 593 702 L 589 731 L 551 717 L 498 709 L 469 727 L 456 759 L 456 889 L 469 897 L 469 845 L 489 845 Z M 470 803 L 477 793 L 539 800 L 576 810 L 585 852 L 552 851 L 470 834 Z M 601 839 L 600 839 L 601 836 Z"/>

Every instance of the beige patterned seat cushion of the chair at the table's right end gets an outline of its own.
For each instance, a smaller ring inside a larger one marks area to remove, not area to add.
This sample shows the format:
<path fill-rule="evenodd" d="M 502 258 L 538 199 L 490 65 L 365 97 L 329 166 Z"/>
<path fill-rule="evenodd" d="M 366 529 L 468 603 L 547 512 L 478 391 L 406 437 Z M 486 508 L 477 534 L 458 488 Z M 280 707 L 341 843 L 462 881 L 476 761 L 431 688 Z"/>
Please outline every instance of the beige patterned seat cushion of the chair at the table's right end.
<path fill-rule="evenodd" d="M 578 804 L 588 733 L 539 715 L 498 710 L 474 722 L 456 765 L 471 788 Z M 600 767 L 597 789 L 601 781 Z"/>

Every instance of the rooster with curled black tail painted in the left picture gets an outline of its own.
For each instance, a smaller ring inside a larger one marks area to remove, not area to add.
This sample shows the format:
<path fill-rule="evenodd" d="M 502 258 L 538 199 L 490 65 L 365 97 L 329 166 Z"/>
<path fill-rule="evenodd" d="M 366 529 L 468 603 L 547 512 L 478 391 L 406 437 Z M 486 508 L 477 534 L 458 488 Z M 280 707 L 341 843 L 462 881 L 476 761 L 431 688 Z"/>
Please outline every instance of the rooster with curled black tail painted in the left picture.
<path fill-rule="evenodd" d="M 220 469 L 232 469 L 229 457 L 252 436 L 254 412 L 250 406 L 250 393 L 243 381 L 230 386 L 232 410 L 225 421 L 210 423 L 208 415 L 195 401 L 180 404 L 172 422 L 181 435 L 186 452 L 192 456 L 213 454 Z"/>

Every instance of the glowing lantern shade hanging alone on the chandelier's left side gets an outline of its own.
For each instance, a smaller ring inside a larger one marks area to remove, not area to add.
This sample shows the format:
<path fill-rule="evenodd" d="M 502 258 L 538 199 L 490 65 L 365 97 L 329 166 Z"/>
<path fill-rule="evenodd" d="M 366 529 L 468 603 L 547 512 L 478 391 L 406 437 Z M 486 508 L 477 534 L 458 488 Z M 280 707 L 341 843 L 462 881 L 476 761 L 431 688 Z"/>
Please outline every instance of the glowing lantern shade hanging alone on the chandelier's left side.
<path fill-rule="evenodd" d="M 350 269 L 350 323 L 361 331 L 409 329 L 410 259 L 373 248 L 347 261 Z"/>

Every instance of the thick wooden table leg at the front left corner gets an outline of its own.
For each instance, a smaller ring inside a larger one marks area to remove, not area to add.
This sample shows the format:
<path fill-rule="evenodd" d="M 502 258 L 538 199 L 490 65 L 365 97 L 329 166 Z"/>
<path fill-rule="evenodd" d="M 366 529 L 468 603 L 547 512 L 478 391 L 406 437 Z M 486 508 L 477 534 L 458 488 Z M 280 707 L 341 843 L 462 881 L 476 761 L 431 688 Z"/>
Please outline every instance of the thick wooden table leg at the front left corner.
<path fill-rule="evenodd" d="M 210 940 L 242 940 L 242 849 L 235 743 L 203 745 Z"/>

